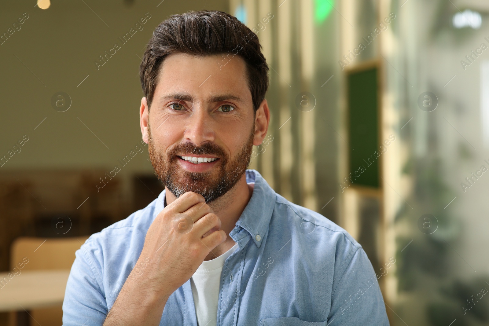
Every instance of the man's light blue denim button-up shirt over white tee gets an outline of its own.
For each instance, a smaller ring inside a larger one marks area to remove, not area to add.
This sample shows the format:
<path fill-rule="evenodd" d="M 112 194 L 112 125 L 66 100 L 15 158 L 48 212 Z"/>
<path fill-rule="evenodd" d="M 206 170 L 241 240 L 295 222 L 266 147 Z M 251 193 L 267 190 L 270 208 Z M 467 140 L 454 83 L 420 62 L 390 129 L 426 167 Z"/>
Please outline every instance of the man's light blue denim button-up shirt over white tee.
<path fill-rule="evenodd" d="M 389 325 L 372 264 L 344 229 L 278 195 L 255 170 L 253 195 L 229 236 L 217 325 Z M 63 303 L 65 326 L 100 326 L 135 267 L 165 191 L 76 251 Z M 144 273 L 144 266 L 136 266 Z M 159 325 L 197 326 L 190 280 L 168 299 Z M 203 325 L 201 325 L 203 326 Z"/>

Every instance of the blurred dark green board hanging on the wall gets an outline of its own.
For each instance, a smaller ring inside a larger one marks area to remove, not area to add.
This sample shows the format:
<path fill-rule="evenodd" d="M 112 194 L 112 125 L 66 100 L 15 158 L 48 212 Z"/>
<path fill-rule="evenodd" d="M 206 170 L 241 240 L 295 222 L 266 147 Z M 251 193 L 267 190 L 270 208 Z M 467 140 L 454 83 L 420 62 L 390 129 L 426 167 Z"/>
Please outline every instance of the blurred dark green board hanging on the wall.
<path fill-rule="evenodd" d="M 351 173 L 347 178 L 353 185 L 378 188 L 381 153 L 378 144 L 377 67 L 351 72 L 347 78 L 348 172 Z"/>

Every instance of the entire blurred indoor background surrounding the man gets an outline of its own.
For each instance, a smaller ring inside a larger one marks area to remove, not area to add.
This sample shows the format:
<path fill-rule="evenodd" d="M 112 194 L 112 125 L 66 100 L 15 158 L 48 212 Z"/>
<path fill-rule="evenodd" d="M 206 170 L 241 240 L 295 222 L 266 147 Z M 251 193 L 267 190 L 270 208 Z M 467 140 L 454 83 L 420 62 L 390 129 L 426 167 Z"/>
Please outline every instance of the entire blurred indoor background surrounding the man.
<path fill-rule="evenodd" d="M 487 0 L 5 1 L 0 294 L 68 270 L 162 191 L 138 66 L 161 21 L 200 9 L 244 22 L 270 66 L 250 168 L 360 242 L 391 325 L 489 325 Z M 61 324 L 59 298 L 21 299 L 0 300 L 0 323 Z"/>

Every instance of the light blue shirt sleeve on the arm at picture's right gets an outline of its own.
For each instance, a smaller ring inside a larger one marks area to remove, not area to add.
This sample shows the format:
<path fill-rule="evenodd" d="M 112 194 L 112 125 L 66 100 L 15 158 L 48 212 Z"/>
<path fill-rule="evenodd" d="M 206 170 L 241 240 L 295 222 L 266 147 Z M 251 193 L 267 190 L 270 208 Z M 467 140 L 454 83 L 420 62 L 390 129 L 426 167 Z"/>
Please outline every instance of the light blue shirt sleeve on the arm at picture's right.
<path fill-rule="evenodd" d="M 389 326 L 378 279 L 363 248 L 356 249 L 332 293 L 328 326 Z"/>

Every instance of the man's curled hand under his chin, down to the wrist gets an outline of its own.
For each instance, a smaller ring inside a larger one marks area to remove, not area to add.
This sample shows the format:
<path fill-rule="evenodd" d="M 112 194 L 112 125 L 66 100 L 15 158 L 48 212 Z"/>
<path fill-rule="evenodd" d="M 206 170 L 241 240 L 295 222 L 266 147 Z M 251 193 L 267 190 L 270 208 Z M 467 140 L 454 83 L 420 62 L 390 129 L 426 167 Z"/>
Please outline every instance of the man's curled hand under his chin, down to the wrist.
<path fill-rule="evenodd" d="M 204 197 L 187 192 L 155 218 L 139 260 L 151 259 L 146 277 L 153 282 L 153 289 L 170 296 L 225 240 L 221 219 L 205 203 Z"/>

